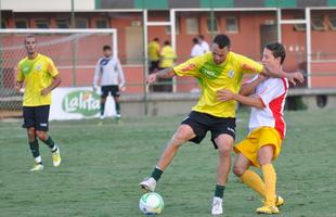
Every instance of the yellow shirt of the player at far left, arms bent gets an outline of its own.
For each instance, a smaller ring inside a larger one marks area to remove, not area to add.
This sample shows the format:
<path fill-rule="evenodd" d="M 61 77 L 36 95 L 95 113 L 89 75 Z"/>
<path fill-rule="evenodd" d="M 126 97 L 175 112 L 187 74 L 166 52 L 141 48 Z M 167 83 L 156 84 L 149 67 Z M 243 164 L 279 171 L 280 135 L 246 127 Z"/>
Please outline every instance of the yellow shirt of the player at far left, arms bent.
<path fill-rule="evenodd" d="M 25 81 L 24 106 L 39 106 L 51 104 L 51 92 L 41 95 L 41 91 L 52 84 L 53 77 L 59 75 L 53 61 L 42 54 L 36 59 L 25 58 L 17 65 L 17 81 Z"/>

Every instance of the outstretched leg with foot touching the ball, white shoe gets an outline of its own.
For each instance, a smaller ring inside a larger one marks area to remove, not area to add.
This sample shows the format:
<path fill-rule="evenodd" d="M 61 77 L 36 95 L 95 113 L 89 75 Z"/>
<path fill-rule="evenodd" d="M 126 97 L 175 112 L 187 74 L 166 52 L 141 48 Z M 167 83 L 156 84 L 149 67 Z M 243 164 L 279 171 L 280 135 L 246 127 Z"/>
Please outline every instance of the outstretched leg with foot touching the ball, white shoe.
<path fill-rule="evenodd" d="M 195 137 L 195 132 L 193 131 L 193 128 L 189 125 L 182 124 L 178 128 L 178 130 L 175 132 L 171 140 L 168 142 L 151 177 L 140 182 L 139 187 L 143 189 L 144 191 L 154 191 L 156 187 L 156 182 L 159 180 L 165 169 L 172 162 L 179 148 L 186 141 L 193 139 L 194 137 Z"/>

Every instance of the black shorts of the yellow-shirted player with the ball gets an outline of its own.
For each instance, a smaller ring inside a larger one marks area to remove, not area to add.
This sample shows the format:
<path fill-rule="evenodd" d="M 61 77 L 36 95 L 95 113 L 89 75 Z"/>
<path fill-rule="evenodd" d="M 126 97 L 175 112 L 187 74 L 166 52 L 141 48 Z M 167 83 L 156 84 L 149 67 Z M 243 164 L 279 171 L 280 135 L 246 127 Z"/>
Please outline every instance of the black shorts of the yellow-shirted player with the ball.
<path fill-rule="evenodd" d="M 205 138 L 208 130 L 211 131 L 211 141 L 215 149 L 217 149 L 215 139 L 219 135 L 230 135 L 233 139 L 235 139 L 234 117 L 216 117 L 206 113 L 192 111 L 181 123 L 181 125 L 189 125 L 194 130 L 196 137 L 190 141 L 197 144 Z"/>

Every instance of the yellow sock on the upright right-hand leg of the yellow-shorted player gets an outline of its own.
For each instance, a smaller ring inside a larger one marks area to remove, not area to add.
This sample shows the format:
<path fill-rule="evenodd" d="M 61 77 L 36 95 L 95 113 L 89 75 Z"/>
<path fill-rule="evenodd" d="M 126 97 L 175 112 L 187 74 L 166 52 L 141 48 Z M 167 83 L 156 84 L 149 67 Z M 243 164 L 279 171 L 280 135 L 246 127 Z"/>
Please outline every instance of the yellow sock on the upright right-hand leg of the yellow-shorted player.
<path fill-rule="evenodd" d="M 264 199 L 266 205 L 275 206 L 275 184 L 276 184 L 276 173 L 272 164 L 266 164 L 261 166 L 263 180 L 264 180 Z"/>

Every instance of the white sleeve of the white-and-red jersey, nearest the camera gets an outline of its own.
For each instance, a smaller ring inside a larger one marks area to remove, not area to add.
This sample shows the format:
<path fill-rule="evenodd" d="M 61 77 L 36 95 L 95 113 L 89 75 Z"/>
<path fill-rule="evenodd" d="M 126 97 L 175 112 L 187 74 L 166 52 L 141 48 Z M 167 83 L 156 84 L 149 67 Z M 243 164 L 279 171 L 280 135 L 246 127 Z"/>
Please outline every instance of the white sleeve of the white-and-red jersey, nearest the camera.
<path fill-rule="evenodd" d="M 263 105 L 268 106 L 272 100 L 286 92 L 286 87 L 281 78 L 274 79 L 269 86 L 260 90 L 258 97 Z"/>

